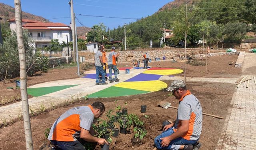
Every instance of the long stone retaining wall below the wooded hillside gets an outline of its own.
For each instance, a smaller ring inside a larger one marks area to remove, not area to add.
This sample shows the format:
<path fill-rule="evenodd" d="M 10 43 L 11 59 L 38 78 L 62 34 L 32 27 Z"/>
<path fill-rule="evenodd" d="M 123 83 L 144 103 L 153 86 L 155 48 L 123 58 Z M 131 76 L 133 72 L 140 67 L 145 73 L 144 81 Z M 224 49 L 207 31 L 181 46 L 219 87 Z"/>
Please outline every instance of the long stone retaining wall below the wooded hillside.
<path fill-rule="evenodd" d="M 210 50 L 210 53 L 216 52 L 225 52 L 226 50 Z M 143 54 L 148 52 L 152 61 L 154 58 L 163 59 L 165 56 L 166 59 L 173 59 L 174 57 L 184 56 L 184 49 L 181 50 L 131 50 L 131 51 L 120 51 L 120 56 L 118 57 L 119 62 L 133 62 L 134 60 L 144 60 Z M 207 51 L 202 49 L 188 49 L 186 50 L 186 55 L 198 55 L 206 53 Z"/>

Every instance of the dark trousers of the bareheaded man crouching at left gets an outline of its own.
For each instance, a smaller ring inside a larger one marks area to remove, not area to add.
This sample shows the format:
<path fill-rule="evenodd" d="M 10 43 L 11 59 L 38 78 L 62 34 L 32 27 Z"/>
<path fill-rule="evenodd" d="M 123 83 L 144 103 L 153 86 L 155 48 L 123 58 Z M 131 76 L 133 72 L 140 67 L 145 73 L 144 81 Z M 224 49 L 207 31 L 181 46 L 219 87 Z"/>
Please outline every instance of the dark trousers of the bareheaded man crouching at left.
<path fill-rule="evenodd" d="M 51 143 L 56 146 L 54 150 L 85 150 L 84 146 L 78 141 L 63 142 L 51 140 Z"/>

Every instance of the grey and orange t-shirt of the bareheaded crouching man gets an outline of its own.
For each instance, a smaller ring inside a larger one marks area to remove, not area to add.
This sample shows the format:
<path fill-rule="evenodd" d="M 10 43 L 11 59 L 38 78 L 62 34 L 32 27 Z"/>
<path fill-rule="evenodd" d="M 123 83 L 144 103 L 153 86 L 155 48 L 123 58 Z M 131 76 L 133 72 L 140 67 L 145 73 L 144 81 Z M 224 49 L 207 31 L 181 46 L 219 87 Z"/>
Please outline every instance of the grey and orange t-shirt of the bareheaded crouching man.
<path fill-rule="evenodd" d="M 48 140 L 75 141 L 80 138 L 81 128 L 90 131 L 94 120 L 90 107 L 74 107 L 62 114 L 52 125 Z"/>

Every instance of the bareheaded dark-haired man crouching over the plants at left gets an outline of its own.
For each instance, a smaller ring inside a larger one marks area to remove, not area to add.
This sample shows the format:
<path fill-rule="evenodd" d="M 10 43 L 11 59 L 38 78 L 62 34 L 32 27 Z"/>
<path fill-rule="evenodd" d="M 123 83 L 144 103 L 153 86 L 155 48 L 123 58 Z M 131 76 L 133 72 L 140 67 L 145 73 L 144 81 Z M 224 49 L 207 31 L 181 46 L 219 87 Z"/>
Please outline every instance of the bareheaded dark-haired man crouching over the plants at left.
<path fill-rule="evenodd" d="M 66 111 L 52 125 L 48 140 L 57 150 L 85 150 L 78 141 L 79 138 L 100 145 L 108 144 L 104 138 L 95 137 L 92 128 L 94 118 L 99 118 L 104 111 L 105 106 L 102 102 Z"/>

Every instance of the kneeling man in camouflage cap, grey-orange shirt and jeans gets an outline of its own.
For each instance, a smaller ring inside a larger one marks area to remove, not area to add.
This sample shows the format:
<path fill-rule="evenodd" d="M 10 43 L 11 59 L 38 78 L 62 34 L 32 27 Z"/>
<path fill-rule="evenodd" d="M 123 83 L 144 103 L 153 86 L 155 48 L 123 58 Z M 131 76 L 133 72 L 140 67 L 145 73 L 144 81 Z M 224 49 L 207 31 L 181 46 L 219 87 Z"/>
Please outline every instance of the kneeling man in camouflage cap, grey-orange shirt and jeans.
<path fill-rule="evenodd" d="M 177 119 L 164 126 L 162 134 L 155 138 L 155 146 L 159 150 L 192 150 L 202 131 L 201 104 L 182 80 L 174 80 L 166 90 L 179 100 L 178 114 Z"/>

